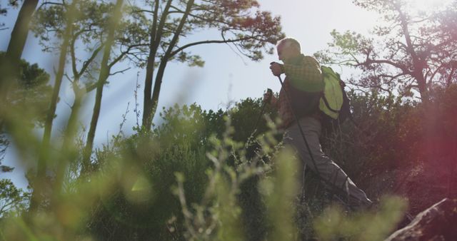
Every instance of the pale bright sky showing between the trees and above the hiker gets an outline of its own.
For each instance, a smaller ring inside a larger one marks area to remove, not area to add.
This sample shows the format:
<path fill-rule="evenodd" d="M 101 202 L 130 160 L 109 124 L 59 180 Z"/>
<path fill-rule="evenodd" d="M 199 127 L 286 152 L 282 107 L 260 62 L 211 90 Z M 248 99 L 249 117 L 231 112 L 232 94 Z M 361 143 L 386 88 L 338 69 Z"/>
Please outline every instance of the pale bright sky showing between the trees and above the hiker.
<path fill-rule="evenodd" d="M 6 6 L 6 0 L 0 0 L 1 6 Z M 331 42 L 330 32 L 357 31 L 361 34 L 368 34 L 369 30 L 376 24 L 378 16 L 376 13 L 365 11 L 352 4 L 351 0 L 259 0 L 262 10 L 271 11 L 273 16 L 281 16 L 281 25 L 286 36 L 293 37 L 301 42 L 302 52 L 312 55 L 316 51 L 323 50 L 327 43 Z M 6 24 L 6 29 L 0 31 L 0 51 L 5 51 L 9 42 L 14 21 L 16 21 L 17 10 L 9 10 L 6 17 L 0 21 Z M 202 32 L 191 36 L 196 40 L 211 39 L 215 34 Z M 197 103 L 202 108 L 225 109 L 233 105 L 235 101 L 244 98 L 261 97 L 266 88 L 279 91 L 281 88 L 277 78 L 271 75 L 269 63 L 278 61 L 276 55 L 266 55 L 263 61 L 253 62 L 226 44 L 201 45 L 191 48 L 191 52 L 199 54 L 206 61 L 203 68 L 188 67 L 182 63 L 171 63 L 166 69 L 164 81 L 159 98 L 159 110 L 163 106 L 173 106 L 174 103 L 191 104 Z M 24 48 L 22 58 L 30 63 L 39 63 L 51 74 L 51 81 L 54 81 L 54 68 L 58 53 L 42 53 L 41 46 L 33 34 Z M 127 68 L 124 64 L 118 70 Z M 350 76 L 349 72 L 341 73 L 342 76 Z M 137 101 L 139 110 L 142 108 L 143 87 L 145 69 L 131 68 L 125 73 L 117 74 L 109 79 L 109 85 L 104 89 L 104 96 L 101 103 L 99 125 L 96 131 L 95 145 L 101 146 L 109 141 L 109 137 L 119 132 L 119 124 L 129 106 L 126 114 L 126 123 L 123 131 L 126 135 L 132 133 L 136 125 L 134 114 L 136 81 L 138 79 L 140 88 Z M 95 92 L 95 91 L 93 91 Z M 58 136 L 66 123 L 72 103 L 73 91 L 66 81 L 61 88 L 61 101 L 57 108 L 57 117 L 54 120 L 53 135 Z M 94 93 L 86 101 L 86 108 L 81 115 L 81 124 L 89 126 L 91 110 L 94 105 Z M 155 123 L 160 119 L 154 118 Z M 141 117 L 140 117 L 141 124 Z M 41 136 L 41 130 L 36 134 Z M 24 170 L 29 166 L 19 162 L 18 153 L 11 145 L 7 150 L 4 165 L 14 166 L 12 173 L 2 173 L 0 178 L 11 178 L 19 188 L 26 188 Z"/>

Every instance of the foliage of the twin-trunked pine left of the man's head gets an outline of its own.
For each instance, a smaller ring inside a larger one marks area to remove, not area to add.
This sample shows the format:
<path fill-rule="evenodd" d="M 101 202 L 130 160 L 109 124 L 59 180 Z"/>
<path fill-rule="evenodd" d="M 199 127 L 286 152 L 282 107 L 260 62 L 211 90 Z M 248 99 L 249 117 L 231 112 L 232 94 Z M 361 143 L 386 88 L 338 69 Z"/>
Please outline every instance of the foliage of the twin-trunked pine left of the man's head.
<path fill-rule="evenodd" d="M 166 8 L 166 2 L 159 3 L 159 1 L 149 1 L 151 6 L 160 4 L 161 9 L 165 9 L 164 12 L 158 14 L 158 18 L 169 14 L 169 10 Z M 175 10 L 179 14 L 185 14 L 186 9 L 185 1 L 173 1 Z M 151 12 L 154 14 L 154 12 Z M 157 29 L 156 32 L 164 32 L 161 36 L 162 48 L 166 49 L 172 44 L 171 39 L 174 34 L 178 31 L 179 21 L 182 21 L 181 16 L 178 18 L 166 19 L 164 29 Z M 154 19 L 151 19 L 152 24 Z M 231 43 L 234 44 L 241 53 L 253 60 L 260 60 L 263 58 L 263 49 L 266 49 L 268 43 L 276 43 L 278 39 L 283 38 L 281 33 L 281 26 L 279 25 L 280 19 L 278 17 L 273 18 L 271 13 L 267 11 L 260 11 L 259 4 L 256 1 L 201 1 L 192 4 L 188 19 L 185 19 L 184 27 L 179 31 L 180 36 L 189 36 L 194 34 L 196 31 L 204 29 L 216 29 L 221 32 L 222 39 L 218 39 L 217 42 Z M 164 31 L 166 30 L 166 31 Z M 196 41 L 195 43 L 211 43 L 215 40 L 202 39 L 202 42 Z M 191 46 L 194 43 L 191 43 Z M 187 45 L 184 45 L 187 46 Z M 173 48 L 172 55 L 179 53 L 176 60 L 181 62 L 189 62 L 189 64 L 197 64 L 200 66 L 204 62 L 200 60 L 199 56 L 194 56 L 186 48 L 181 48 L 178 45 L 171 46 Z M 272 46 L 268 46 L 268 50 L 271 52 Z M 175 51 L 179 50 L 179 51 Z M 157 56 L 161 56 L 158 54 Z M 198 61 L 196 61 L 198 60 Z"/>

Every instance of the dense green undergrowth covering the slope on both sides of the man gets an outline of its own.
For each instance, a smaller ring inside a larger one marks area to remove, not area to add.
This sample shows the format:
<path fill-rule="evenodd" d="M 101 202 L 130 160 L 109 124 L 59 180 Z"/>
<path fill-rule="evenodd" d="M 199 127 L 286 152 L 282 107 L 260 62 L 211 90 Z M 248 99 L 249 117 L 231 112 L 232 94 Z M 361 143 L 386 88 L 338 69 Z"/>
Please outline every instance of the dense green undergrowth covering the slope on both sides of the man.
<path fill-rule="evenodd" d="M 456 197 L 457 86 L 437 88 L 426 105 L 377 93 L 351 99 L 357 125 L 346 121 L 322 143 L 378 203 L 373 210 L 347 210 L 312 173 L 301 201 L 277 114 L 267 107 L 256 125 L 261 101 L 248 98 L 226 111 L 164 109 L 154 130 L 119 133 L 96 150 L 87 173 L 81 150 L 53 155 L 71 160 L 61 191 L 39 212 L 2 213 L 0 238 L 382 240 L 406 210 Z"/>

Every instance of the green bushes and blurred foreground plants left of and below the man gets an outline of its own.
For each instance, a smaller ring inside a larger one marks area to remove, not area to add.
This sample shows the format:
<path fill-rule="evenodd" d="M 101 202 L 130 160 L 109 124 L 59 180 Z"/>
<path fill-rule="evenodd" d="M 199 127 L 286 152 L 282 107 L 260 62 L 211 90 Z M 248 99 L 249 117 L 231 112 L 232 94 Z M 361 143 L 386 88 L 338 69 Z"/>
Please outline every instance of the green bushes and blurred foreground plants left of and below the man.
<path fill-rule="evenodd" d="M 164 111 L 164 123 L 153 132 L 139 130 L 129 137 L 119 133 L 109 144 L 96 150 L 89 175 L 80 175 L 84 146 L 81 140 L 79 154 L 66 169 L 58 202 L 45 203 L 43 209 L 30 213 L 28 218 L 2 220 L 2 238 L 298 240 L 314 237 L 312 224 L 325 205 L 311 208 L 316 209 L 312 215 L 296 222 L 298 212 L 309 210 L 296 208 L 295 158 L 278 143 L 273 121 L 267 118 L 270 130 L 262 130 L 258 137 L 251 136 L 246 143 L 233 138 L 237 136 L 241 140 L 242 135 L 235 133 L 238 126 L 232 126 L 231 118 L 241 118 L 238 111 L 252 117 L 256 111 L 248 110 L 260 108 L 255 102 L 248 103 L 252 105 L 238 105 L 230 111 L 216 113 L 203 111 L 199 106 L 170 108 Z M 225 124 L 221 126 L 221 123 Z M 248 136 L 248 131 L 243 135 Z M 322 200 L 316 200 L 319 201 Z M 354 215 L 357 222 L 342 221 L 342 212 L 331 215 L 330 211 L 323 212 L 318 220 L 333 220 L 331 224 L 339 220 L 333 225 L 337 227 L 350 227 L 352 223 L 354 226 L 341 231 L 323 222 L 323 226 L 316 225 L 316 233 L 322 239 L 361 240 L 367 234 L 386 235 L 393 226 L 375 230 L 374 234 L 369 227 L 377 227 L 379 223 L 395 225 L 397 202 L 389 203 L 369 218 L 357 219 Z M 303 231 L 303 225 L 310 228 Z"/>

